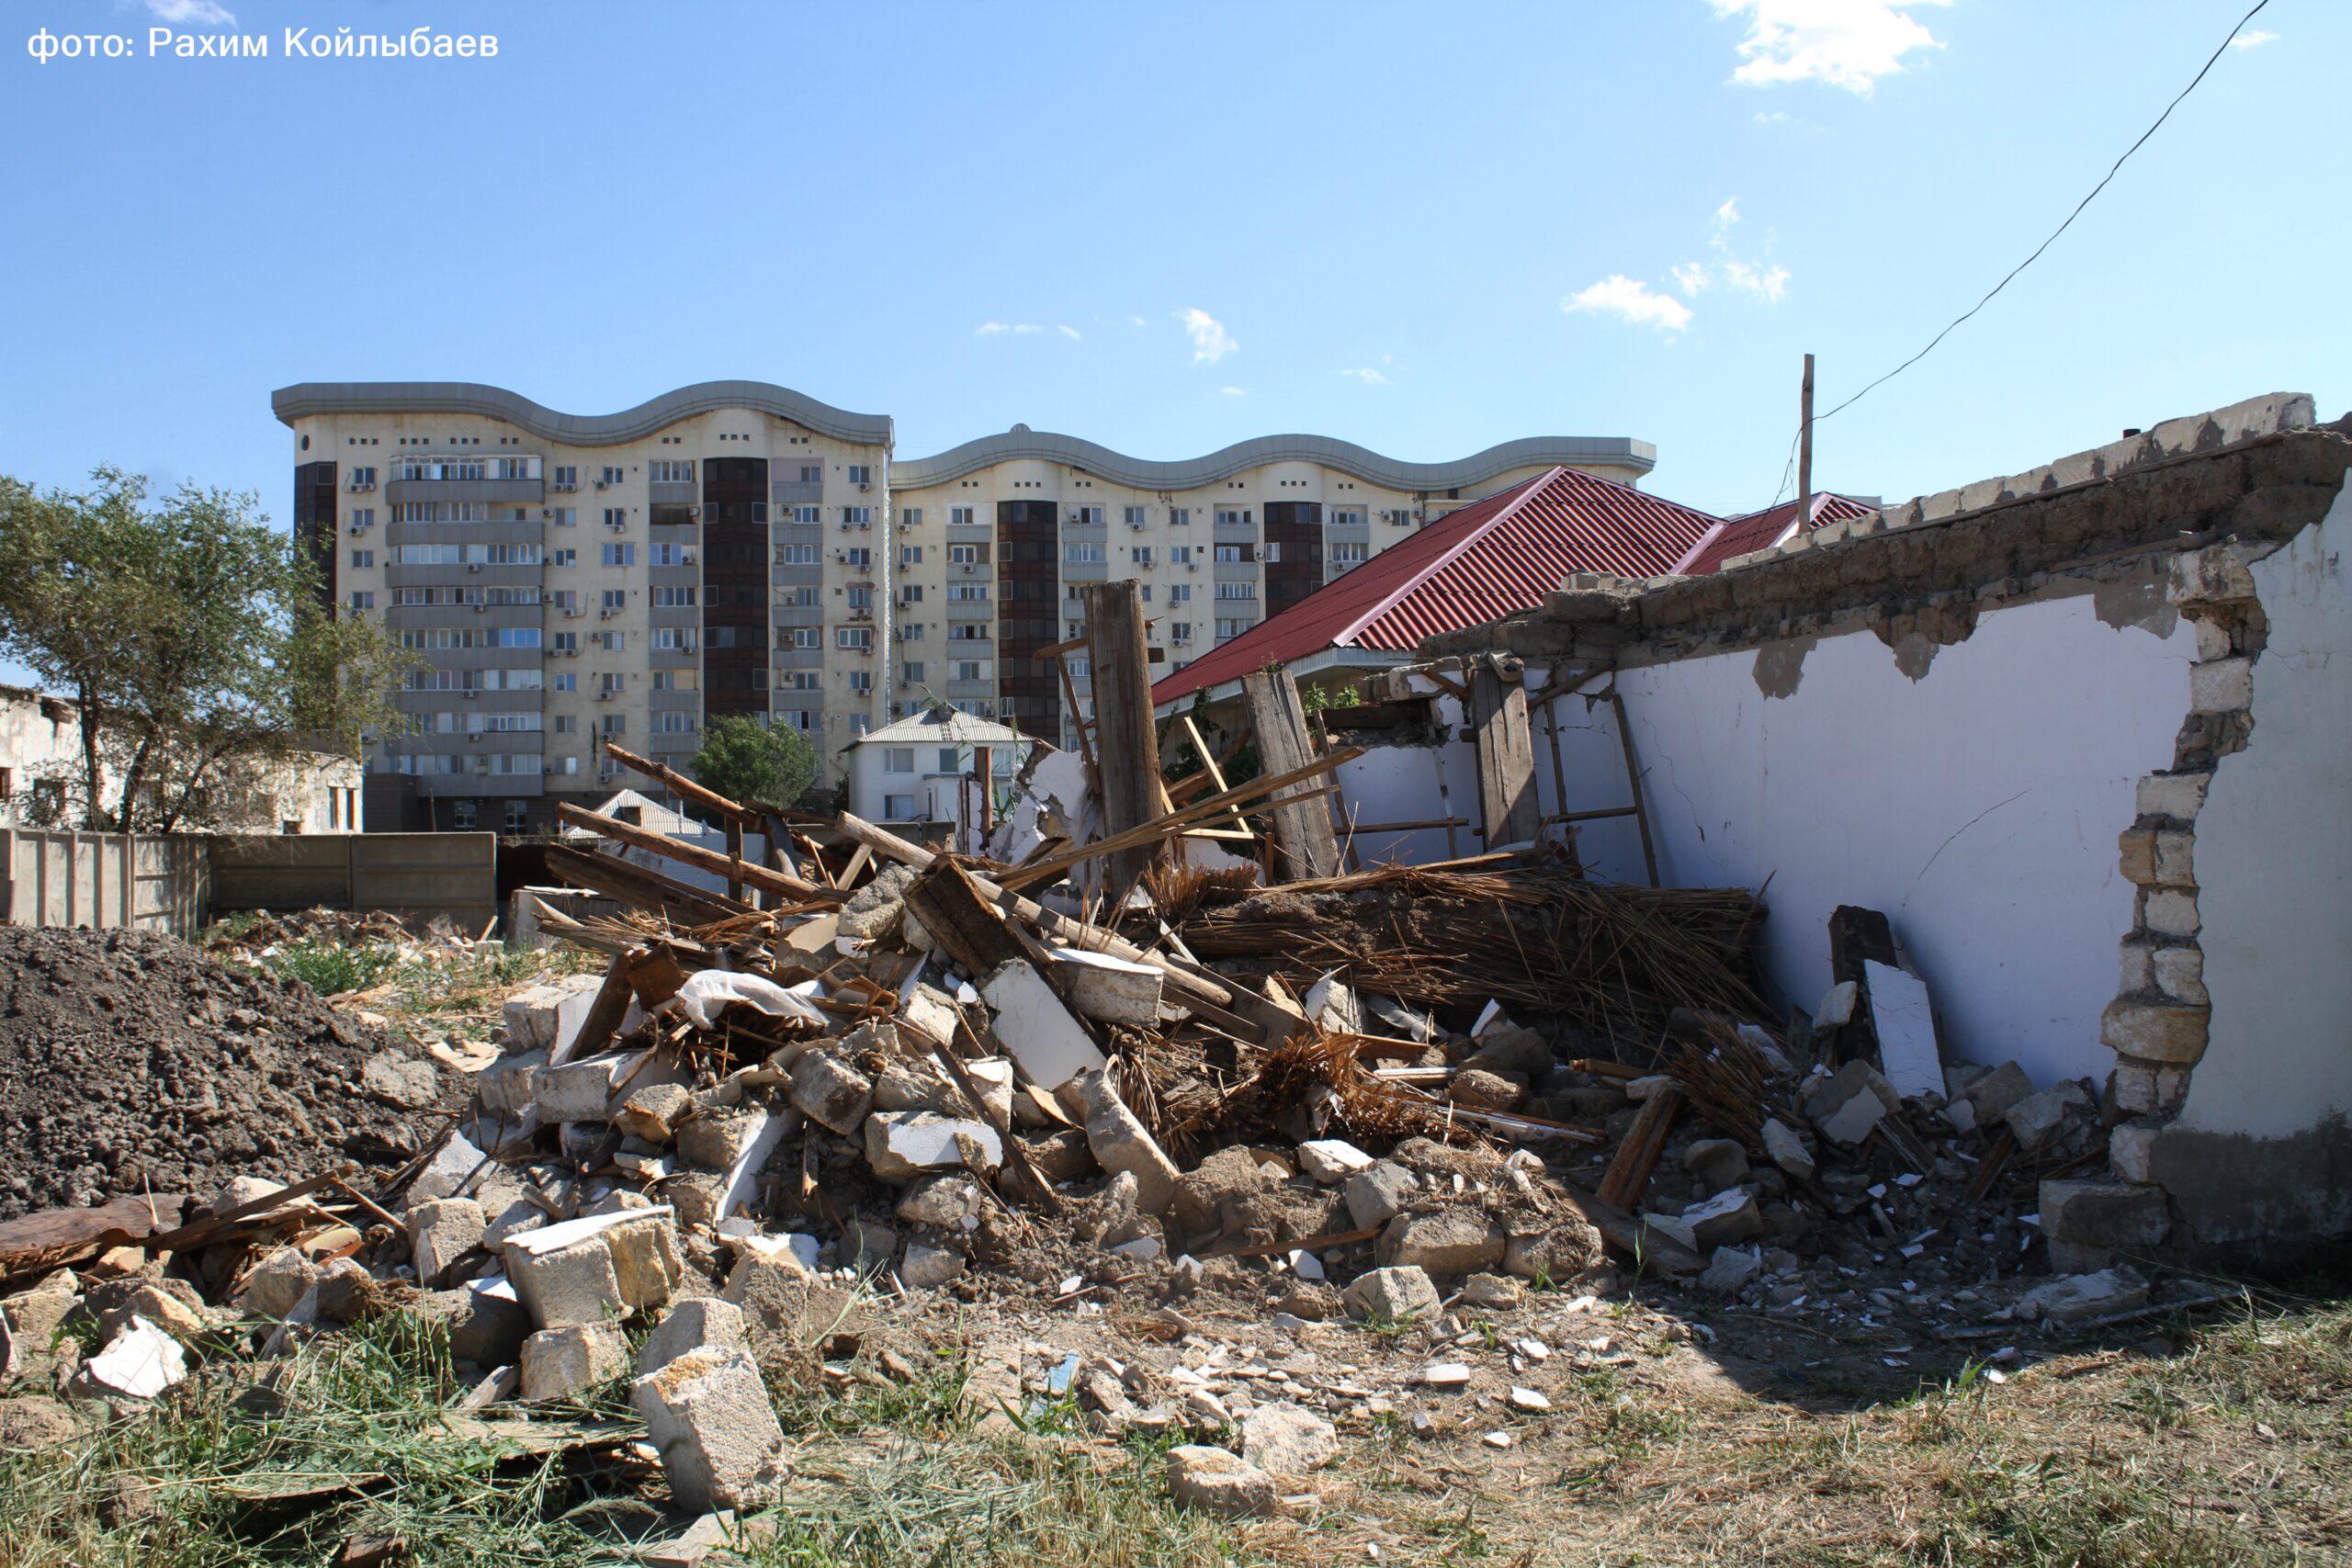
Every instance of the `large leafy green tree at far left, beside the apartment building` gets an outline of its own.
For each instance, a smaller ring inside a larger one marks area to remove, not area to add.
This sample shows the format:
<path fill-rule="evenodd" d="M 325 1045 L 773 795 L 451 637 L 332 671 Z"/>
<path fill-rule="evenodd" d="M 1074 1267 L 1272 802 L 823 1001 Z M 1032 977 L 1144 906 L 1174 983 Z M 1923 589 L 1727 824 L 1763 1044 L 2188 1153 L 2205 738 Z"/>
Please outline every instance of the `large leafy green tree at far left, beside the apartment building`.
<path fill-rule="evenodd" d="M 0 477 L 0 654 L 82 712 L 68 816 L 113 832 L 207 825 L 235 785 L 308 752 L 358 757 L 402 717 L 409 658 L 339 618 L 320 564 L 259 498 L 146 480 L 92 489 Z"/>

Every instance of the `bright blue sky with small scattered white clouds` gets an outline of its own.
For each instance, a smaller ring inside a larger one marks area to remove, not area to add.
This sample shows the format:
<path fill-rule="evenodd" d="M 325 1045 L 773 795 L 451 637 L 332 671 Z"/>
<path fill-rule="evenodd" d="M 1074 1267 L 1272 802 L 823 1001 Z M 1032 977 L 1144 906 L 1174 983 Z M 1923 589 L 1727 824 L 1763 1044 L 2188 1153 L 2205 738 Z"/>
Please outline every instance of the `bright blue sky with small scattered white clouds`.
<path fill-rule="evenodd" d="M 0 473 L 289 510 L 268 393 L 600 414 L 748 376 L 1143 456 L 1658 444 L 1708 510 L 2030 252 L 2251 0 L 280 5 L 12 0 Z M 158 21 L 167 16 L 172 21 Z M 282 28 L 496 33 L 282 59 Z M 270 59 L 146 59 L 146 28 Z M 26 38 L 139 56 L 35 63 Z M 2340 414 L 2352 5 L 2274 0 L 2049 256 L 1823 425 L 1910 496 L 2291 388 Z M 2312 287 L 2317 284 L 2317 287 Z"/>

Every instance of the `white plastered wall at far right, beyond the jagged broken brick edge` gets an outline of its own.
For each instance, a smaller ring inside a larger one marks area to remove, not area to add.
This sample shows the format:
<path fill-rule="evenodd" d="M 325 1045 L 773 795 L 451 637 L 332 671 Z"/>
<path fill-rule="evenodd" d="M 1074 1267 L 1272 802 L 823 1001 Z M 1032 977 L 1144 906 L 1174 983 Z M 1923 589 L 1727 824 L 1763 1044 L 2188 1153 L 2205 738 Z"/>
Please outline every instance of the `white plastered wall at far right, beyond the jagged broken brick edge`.
<path fill-rule="evenodd" d="M 2253 564 L 2253 736 L 2197 813 L 2213 1032 L 2178 1126 L 2277 1138 L 2352 1112 L 2352 489 Z"/>

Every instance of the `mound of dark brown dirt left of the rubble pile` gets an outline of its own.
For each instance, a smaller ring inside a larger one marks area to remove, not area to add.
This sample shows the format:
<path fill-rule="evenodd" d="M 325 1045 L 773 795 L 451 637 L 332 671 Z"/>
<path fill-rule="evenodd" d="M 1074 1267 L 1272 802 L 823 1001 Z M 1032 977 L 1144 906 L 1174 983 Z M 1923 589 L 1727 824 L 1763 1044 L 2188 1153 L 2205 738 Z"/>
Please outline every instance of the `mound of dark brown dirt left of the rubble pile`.
<path fill-rule="evenodd" d="M 0 1218 L 397 1164 L 463 1100 L 454 1077 L 169 936 L 0 929 Z"/>

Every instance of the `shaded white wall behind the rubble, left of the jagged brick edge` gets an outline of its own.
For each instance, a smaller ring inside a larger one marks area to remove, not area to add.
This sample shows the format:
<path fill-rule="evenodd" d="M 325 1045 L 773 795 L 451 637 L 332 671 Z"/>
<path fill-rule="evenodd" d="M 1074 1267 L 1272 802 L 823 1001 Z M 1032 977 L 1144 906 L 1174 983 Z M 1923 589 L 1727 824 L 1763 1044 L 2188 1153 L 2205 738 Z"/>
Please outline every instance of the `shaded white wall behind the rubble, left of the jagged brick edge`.
<path fill-rule="evenodd" d="M 1628 670 L 1661 879 L 1769 877 L 1759 954 L 1804 1009 L 1830 985 L 1830 910 L 1882 910 L 1947 1053 L 2105 1079 L 2098 1013 L 2133 905 L 2114 839 L 2138 778 L 2171 766 L 2194 646 L 2185 623 L 2105 625 L 2084 595 L 1987 611 L 1919 682 L 1872 632 L 1811 646 L 1785 698 L 1759 691 L 1757 651 Z M 1609 708 L 1552 705 L 1571 809 L 1623 804 Z M 1541 722 L 1536 752 L 1550 795 Z M 1642 879 L 1630 825 L 1583 849 L 1597 875 Z"/>

